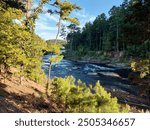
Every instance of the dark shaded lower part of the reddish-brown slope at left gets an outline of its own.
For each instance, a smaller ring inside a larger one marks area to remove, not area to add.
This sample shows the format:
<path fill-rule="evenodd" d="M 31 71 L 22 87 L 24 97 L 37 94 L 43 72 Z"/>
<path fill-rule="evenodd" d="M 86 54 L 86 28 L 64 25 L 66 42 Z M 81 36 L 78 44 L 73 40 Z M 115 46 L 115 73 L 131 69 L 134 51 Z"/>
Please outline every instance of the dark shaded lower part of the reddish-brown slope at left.
<path fill-rule="evenodd" d="M 63 111 L 52 97 L 43 98 L 35 97 L 32 94 L 8 93 L 5 91 L 6 87 L 5 84 L 0 83 L 0 113 L 54 113 Z"/>

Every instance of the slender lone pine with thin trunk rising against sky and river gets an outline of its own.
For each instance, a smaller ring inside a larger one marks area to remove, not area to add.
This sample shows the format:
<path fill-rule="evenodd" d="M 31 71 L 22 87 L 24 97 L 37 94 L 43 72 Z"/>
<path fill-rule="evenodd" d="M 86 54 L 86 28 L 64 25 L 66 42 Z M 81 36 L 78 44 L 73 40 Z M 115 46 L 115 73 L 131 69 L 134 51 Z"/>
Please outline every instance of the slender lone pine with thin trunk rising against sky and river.
<path fill-rule="evenodd" d="M 63 56 L 60 55 L 60 53 L 58 53 L 57 51 L 60 51 L 60 47 L 59 45 L 57 45 L 57 39 L 61 30 L 61 22 L 62 20 L 66 20 L 66 21 L 70 21 L 72 23 L 75 24 L 79 24 L 78 20 L 76 18 L 71 18 L 70 17 L 70 13 L 72 11 L 74 11 L 75 9 L 80 9 L 79 6 L 77 6 L 76 4 L 71 4 L 70 2 L 64 1 L 62 2 L 61 0 L 56 0 L 55 3 L 53 4 L 53 6 L 55 6 L 56 8 L 58 8 L 58 10 L 55 10 L 55 13 L 59 15 L 59 22 L 57 23 L 58 26 L 58 32 L 56 34 L 56 39 L 55 39 L 55 43 L 54 45 L 52 45 L 49 48 L 52 48 L 51 51 L 51 55 L 52 54 L 56 54 L 55 57 L 52 57 L 49 59 L 49 76 L 48 76 L 48 82 L 47 82 L 47 88 L 49 88 L 49 84 L 50 84 L 50 71 L 51 71 L 51 64 L 54 62 L 59 62 Z"/>

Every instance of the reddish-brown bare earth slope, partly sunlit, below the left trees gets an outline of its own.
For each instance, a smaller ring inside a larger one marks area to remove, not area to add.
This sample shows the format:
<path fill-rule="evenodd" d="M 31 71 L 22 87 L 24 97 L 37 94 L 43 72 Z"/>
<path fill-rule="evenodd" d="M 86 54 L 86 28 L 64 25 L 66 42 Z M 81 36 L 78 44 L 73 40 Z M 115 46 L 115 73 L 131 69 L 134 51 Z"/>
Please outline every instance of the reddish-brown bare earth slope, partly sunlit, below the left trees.
<path fill-rule="evenodd" d="M 18 80 L 12 77 L 0 81 L 0 113 L 60 112 L 53 98 L 46 97 L 43 86 L 27 78 L 20 85 Z"/>

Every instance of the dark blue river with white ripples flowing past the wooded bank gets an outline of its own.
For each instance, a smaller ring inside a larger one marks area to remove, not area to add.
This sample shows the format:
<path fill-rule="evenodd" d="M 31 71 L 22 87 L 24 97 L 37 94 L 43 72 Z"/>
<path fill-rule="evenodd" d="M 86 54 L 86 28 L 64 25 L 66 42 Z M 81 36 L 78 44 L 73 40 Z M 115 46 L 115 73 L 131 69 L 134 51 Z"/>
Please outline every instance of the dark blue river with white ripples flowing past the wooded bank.
<path fill-rule="evenodd" d="M 49 54 L 44 55 L 43 57 L 42 69 L 45 71 L 46 75 L 48 75 L 49 57 Z M 55 76 L 65 77 L 72 75 L 77 80 L 80 79 L 82 82 L 86 83 L 87 86 L 95 85 L 99 80 L 105 89 L 115 92 L 115 95 L 118 95 L 121 102 L 129 103 L 131 105 L 135 104 L 140 107 L 147 106 L 147 103 L 143 98 L 138 99 L 138 87 L 128 80 L 128 73 L 130 73 L 130 70 L 125 68 L 63 59 L 59 63 L 52 65 L 51 79 Z"/>

